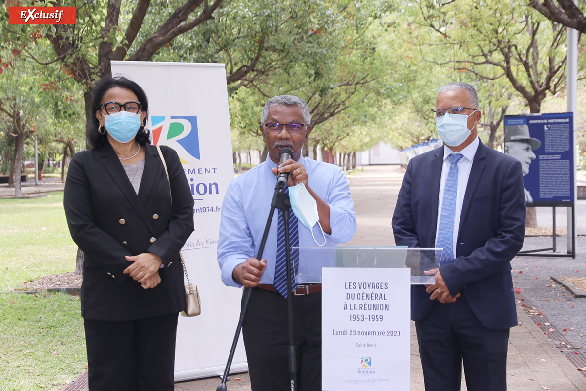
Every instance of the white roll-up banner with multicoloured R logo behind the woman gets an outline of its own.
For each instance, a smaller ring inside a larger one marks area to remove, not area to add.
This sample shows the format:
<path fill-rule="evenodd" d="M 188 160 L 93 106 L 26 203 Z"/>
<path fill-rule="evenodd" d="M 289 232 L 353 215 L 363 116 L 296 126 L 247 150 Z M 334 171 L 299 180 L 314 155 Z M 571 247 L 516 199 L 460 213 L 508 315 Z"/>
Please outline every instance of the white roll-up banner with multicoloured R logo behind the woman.
<path fill-rule="evenodd" d="M 202 314 L 179 317 L 175 380 L 222 375 L 240 314 L 241 291 L 222 284 L 217 263 L 220 208 L 234 178 L 224 64 L 113 61 L 112 75 L 125 76 L 149 100 L 147 128 L 154 145 L 177 151 L 195 206 L 195 232 L 183 247 Z M 241 341 L 241 339 L 240 339 Z M 242 342 L 231 372 L 248 369 Z"/>

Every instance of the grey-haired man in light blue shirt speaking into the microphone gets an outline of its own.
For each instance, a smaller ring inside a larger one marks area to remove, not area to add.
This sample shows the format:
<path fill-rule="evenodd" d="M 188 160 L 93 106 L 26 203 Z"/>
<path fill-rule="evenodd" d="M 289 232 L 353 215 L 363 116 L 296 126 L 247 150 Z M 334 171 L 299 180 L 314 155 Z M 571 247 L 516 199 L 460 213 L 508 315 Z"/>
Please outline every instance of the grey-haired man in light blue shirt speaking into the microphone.
<path fill-rule="evenodd" d="M 280 239 L 277 213 L 271 222 L 263 259 L 255 258 L 277 174 L 289 172 L 287 186 L 304 183 L 315 199 L 326 247 L 346 243 L 356 231 L 354 205 L 342 169 L 301 156 L 311 128 L 309 108 L 301 98 L 277 96 L 268 100 L 260 125 L 268 158 L 234 179 L 222 204 L 218 244 L 222 281 L 234 287 L 253 288 L 243 322 L 243 339 L 254 391 L 290 388 L 287 300 L 274 287 Z M 293 158 L 279 165 L 283 148 L 291 149 Z M 298 246 L 315 247 L 311 231 L 301 220 L 296 225 Z M 319 226 L 312 229 L 316 238 L 322 237 Z M 291 224 L 289 230 L 293 231 Z M 321 284 L 298 285 L 293 294 L 299 389 L 321 390 Z"/>

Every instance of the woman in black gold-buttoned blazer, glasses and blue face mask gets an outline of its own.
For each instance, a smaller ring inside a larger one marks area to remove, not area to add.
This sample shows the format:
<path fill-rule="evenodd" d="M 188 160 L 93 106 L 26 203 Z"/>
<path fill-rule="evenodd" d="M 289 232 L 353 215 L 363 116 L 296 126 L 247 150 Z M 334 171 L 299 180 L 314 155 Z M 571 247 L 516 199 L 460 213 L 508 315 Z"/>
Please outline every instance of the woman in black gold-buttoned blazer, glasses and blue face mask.
<path fill-rule="evenodd" d="M 71 237 L 86 254 L 81 316 L 90 391 L 172 391 L 185 309 L 179 250 L 193 232 L 193 197 L 178 155 L 161 147 L 169 184 L 137 83 L 101 80 L 92 108 L 93 148 L 71 159 L 64 195 Z"/>

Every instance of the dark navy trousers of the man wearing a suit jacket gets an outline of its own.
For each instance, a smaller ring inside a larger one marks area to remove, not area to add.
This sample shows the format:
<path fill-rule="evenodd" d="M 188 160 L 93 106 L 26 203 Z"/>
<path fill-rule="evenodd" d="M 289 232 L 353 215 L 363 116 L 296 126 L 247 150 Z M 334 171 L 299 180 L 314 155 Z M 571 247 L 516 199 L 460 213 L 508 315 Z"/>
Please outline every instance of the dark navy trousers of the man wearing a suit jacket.
<path fill-rule="evenodd" d="M 483 326 L 464 294 L 450 304 L 436 301 L 415 330 L 425 391 L 459 391 L 462 361 L 468 391 L 507 389 L 509 329 Z"/>

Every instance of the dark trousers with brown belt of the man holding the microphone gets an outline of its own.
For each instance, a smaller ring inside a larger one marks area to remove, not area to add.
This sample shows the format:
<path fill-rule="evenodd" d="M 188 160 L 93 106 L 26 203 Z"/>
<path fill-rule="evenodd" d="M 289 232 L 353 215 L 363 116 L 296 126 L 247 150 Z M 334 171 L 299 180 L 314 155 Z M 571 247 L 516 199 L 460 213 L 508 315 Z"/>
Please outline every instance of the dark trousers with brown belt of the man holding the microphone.
<path fill-rule="evenodd" d="M 242 335 L 253 391 L 285 391 L 289 385 L 287 299 L 253 288 Z M 322 293 L 293 296 L 298 391 L 322 389 Z"/>

